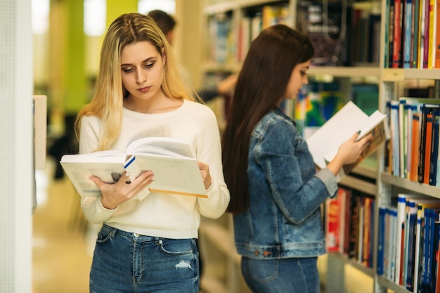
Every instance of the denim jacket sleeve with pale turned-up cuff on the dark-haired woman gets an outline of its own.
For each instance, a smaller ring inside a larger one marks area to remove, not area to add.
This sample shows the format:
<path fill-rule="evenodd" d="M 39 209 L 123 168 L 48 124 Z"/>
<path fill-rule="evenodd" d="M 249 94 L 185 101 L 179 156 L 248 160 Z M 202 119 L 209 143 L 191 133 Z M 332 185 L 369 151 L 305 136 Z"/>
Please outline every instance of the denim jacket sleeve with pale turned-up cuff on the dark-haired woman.
<path fill-rule="evenodd" d="M 253 152 L 273 200 L 288 221 L 302 223 L 335 195 L 335 176 L 328 169 L 316 174 L 307 143 L 291 121 L 272 119 Z"/>

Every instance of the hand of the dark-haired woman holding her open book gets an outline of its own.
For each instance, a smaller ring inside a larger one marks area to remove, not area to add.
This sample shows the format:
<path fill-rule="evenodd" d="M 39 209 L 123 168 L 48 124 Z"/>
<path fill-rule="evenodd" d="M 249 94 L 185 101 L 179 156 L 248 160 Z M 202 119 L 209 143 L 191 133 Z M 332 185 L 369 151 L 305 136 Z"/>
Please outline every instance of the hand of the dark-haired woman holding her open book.
<path fill-rule="evenodd" d="M 344 165 L 356 162 L 359 157 L 361 157 L 363 150 L 368 147 L 370 141 L 373 139 L 373 135 L 368 134 L 359 141 L 356 141 L 358 136 L 358 133 L 354 134 L 339 146 L 335 158 L 327 165 L 327 168 L 330 169 L 333 174 L 337 175 Z"/>

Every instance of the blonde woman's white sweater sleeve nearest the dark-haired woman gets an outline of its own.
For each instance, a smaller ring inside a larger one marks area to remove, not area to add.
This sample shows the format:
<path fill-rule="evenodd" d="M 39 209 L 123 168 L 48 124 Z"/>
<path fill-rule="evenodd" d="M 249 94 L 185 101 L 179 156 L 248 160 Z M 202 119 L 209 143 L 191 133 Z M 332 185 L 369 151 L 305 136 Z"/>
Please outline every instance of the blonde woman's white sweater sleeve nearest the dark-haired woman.
<path fill-rule="evenodd" d="M 208 111 L 201 135 L 197 138 L 197 159 L 209 166 L 212 184 L 207 190 L 208 198 L 198 198 L 200 214 L 208 218 L 219 218 L 229 203 L 221 162 L 220 132 L 214 112 Z"/>

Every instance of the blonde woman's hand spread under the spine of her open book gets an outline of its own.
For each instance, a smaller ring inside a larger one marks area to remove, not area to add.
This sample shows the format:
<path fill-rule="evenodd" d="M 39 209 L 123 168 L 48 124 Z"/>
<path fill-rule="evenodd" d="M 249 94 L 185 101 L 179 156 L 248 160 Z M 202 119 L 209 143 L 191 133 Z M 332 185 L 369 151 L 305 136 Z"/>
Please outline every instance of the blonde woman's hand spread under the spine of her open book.
<path fill-rule="evenodd" d="M 153 183 L 153 178 L 153 171 L 143 172 L 131 183 L 127 183 L 129 181 L 129 174 L 127 172 L 122 174 L 116 183 L 105 183 L 96 176 L 90 177 L 91 181 L 101 190 L 101 204 L 106 209 L 116 209 L 119 204 L 127 202 L 127 200 L 140 193 L 143 188 Z"/>

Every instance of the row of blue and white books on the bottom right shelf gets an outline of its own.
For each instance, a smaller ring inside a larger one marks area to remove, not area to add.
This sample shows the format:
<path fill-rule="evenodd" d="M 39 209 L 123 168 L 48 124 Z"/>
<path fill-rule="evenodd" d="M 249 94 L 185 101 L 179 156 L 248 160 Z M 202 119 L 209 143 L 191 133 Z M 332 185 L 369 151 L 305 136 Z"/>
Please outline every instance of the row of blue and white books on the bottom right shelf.
<path fill-rule="evenodd" d="M 439 292 L 440 200 L 399 194 L 379 207 L 377 275 L 410 292 Z"/>

